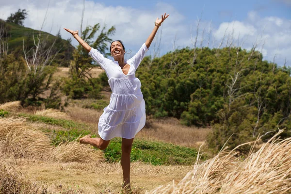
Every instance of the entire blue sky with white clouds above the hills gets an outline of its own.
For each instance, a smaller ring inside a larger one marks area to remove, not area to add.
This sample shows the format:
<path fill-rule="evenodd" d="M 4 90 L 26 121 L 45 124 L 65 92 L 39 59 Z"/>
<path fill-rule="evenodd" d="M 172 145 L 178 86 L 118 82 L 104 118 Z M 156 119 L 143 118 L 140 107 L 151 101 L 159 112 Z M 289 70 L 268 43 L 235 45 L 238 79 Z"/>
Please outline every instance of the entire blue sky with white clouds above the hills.
<path fill-rule="evenodd" d="M 24 26 L 38 30 L 48 3 L 44 31 L 56 34 L 64 27 L 80 31 L 82 0 L 0 0 L 0 18 L 6 19 L 18 8 L 27 9 Z M 201 46 L 224 47 L 232 37 L 233 45 L 239 42 L 245 49 L 256 45 L 265 60 L 275 58 L 275 63 L 283 65 L 286 58 L 286 65 L 291 66 L 291 0 L 85 0 L 83 21 L 84 25 L 115 26 L 112 39 L 124 41 L 126 49 L 132 50 L 129 58 L 146 41 L 156 17 L 167 12 L 170 17 L 148 52 L 161 56 L 173 49 L 193 48 L 197 16 L 202 11 L 197 38 Z M 63 38 L 70 37 L 68 32 L 61 33 Z M 76 40 L 72 43 L 78 44 Z"/>

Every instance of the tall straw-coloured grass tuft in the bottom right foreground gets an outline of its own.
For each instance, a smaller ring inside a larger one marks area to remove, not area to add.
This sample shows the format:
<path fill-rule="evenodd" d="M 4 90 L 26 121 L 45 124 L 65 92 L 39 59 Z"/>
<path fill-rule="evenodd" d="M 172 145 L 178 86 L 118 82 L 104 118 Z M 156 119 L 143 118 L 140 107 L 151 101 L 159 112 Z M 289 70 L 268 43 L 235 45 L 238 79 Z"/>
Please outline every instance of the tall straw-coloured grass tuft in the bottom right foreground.
<path fill-rule="evenodd" d="M 160 186 L 148 194 L 290 193 L 291 138 L 279 141 L 280 132 L 259 151 L 251 150 L 245 160 L 235 157 L 235 149 L 223 150 L 206 162 L 197 161 L 178 184 Z"/>

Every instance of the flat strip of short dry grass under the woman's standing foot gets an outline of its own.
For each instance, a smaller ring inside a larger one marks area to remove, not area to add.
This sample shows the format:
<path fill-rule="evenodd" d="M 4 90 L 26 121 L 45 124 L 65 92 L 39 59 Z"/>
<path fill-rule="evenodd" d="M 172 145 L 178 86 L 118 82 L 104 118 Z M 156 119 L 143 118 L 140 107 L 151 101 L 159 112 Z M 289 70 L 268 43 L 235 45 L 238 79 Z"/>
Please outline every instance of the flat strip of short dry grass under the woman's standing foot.
<path fill-rule="evenodd" d="M 82 188 L 86 194 L 102 193 L 105 190 L 118 193 L 122 183 L 119 163 L 33 163 L 17 168 L 21 169 L 26 178 L 48 185 L 52 190 L 66 185 Z M 134 162 L 131 165 L 131 186 L 134 191 L 144 193 L 173 179 L 178 182 L 191 169 L 191 166 L 153 166 Z"/>

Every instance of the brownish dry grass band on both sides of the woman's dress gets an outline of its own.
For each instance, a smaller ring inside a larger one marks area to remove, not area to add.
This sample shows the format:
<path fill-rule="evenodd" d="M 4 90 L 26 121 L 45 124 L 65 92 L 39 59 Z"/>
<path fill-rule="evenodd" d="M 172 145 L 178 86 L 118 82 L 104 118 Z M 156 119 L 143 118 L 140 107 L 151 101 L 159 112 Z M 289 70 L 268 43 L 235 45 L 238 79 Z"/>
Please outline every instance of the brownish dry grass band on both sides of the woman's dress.
<path fill-rule="evenodd" d="M 78 101 L 74 106 L 66 108 L 66 113 L 74 121 L 93 124 L 96 131 L 92 132 L 97 133 L 99 117 L 103 111 L 82 108 L 86 103 L 92 102 L 89 99 Z M 163 120 L 147 118 L 146 127 L 137 133 L 136 138 L 198 148 L 205 142 L 210 131 L 210 128 L 183 126 L 176 118 Z"/>

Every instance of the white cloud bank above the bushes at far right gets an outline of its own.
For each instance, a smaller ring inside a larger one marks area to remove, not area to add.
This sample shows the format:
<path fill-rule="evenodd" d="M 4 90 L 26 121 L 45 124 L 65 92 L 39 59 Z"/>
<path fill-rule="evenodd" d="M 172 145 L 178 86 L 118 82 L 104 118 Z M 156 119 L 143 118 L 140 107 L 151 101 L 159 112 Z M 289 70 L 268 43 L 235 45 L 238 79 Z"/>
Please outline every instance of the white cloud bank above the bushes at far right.
<path fill-rule="evenodd" d="M 221 23 L 213 32 L 217 42 L 221 42 L 224 36 L 225 39 L 233 37 L 233 42 L 240 38 L 242 47 L 246 49 L 257 45 L 264 60 L 273 61 L 276 56 L 275 62 L 278 65 L 283 65 L 285 58 L 291 60 L 291 20 L 276 16 L 260 17 L 257 12 L 250 11 L 246 20 Z M 291 66 L 291 62 L 287 65 Z"/>

